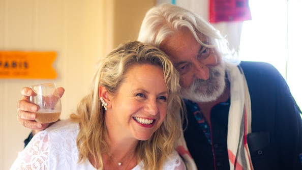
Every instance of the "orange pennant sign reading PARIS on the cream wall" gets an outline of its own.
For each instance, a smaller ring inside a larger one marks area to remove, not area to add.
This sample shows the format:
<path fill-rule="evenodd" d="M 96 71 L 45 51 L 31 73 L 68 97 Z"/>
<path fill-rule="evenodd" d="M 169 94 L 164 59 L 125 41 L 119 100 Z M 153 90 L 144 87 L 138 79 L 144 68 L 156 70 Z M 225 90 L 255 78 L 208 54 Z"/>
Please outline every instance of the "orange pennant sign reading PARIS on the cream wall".
<path fill-rule="evenodd" d="M 0 79 L 54 79 L 56 52 L 0 51 Z"/>

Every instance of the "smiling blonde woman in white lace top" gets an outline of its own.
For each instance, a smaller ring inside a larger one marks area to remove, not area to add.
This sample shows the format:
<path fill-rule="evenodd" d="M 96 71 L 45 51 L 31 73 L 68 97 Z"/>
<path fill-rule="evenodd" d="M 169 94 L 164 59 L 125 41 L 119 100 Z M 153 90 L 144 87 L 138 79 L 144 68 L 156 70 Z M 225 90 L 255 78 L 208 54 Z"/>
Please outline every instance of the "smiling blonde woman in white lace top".
<path fill-rule="evenodd" d="M 11 169 L 186 169 L 174 150 L 179 89 L 162 51 L 126 43 L 100 62 L 70 119 L 38 132 Z"/>

